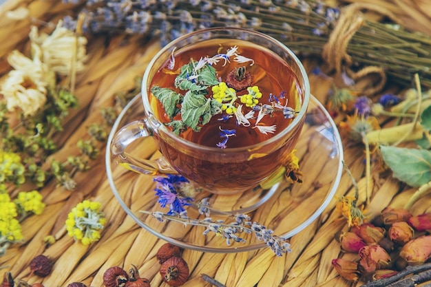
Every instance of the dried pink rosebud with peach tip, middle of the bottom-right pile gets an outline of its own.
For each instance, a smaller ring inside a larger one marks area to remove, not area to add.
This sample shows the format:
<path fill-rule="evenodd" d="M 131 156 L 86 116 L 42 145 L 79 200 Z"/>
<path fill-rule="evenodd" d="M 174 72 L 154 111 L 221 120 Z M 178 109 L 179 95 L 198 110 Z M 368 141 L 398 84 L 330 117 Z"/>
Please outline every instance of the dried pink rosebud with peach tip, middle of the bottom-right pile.
<path fill-rule="evenodd" d="M 359 264 L 366 273 L 373 273 L 375 270 L 387 268 L 391 261 L 388 253 L 379 245 L 364 246 L 359 251 L 359 257 L 361 257 Z"/>

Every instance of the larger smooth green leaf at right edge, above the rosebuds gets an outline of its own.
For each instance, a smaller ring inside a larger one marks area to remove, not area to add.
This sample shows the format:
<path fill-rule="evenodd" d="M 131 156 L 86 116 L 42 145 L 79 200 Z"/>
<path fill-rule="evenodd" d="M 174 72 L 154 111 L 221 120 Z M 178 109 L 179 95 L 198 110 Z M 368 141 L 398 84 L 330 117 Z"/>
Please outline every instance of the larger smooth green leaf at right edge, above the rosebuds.
<path fill-rule="evenodd" d="M 380 150 L 395 178 L 411 187 L 421 187 L 431 181 L 431 151 L 384 146 Z"/>

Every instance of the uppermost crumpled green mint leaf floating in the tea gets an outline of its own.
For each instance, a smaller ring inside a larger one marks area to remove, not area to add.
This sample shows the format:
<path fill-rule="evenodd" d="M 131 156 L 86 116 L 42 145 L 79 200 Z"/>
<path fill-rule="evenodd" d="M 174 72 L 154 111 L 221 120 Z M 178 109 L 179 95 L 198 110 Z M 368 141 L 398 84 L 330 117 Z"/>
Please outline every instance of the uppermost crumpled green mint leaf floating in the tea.
<path fill-rule="evenodd" d="M 211 65 L 195 70 L 196 64 L 196 61 L 191 60 L 181 67 L 181 73 L 175 78 L 176 87 L 191 92 L 206 92 L 207 87 L 218 85 L 215 69 Z"/>

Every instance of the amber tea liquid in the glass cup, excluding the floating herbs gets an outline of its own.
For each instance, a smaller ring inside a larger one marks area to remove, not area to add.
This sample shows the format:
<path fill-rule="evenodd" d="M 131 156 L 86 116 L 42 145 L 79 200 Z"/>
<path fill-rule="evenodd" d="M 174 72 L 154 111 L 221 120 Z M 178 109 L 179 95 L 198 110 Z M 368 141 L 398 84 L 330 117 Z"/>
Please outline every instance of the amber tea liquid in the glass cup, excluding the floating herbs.
<path fill-rule="evenodd" d="M 212 39 L 204 43 L 204 45 L 202 43 L 191 45 L 176 52 L 174 70 L 179 70 L 182 65 L 189 63 L 190 59 L 199 61 L 204 56 L 211 57 L 215 54 L 226 53 L 229 48 L 236 45 L 238 46 L 238 54 L 253 59 L 254 63 L 253 65 L 236 63 L 231 57 L 230 63 L 223 66 L 224 61 L 220 61 L 213 65 L 220 81 L 226 81 L 227 74 L 231 70 L 245 66 L 246 71 L 253 76 L 251 86 L 256 85 L 262 92 L 262 98 L 259 100 L 260 105 L 273 105 L 275 98 L 270 101 L 272 94 L 277 97 L 279 105 L 287 105 L 299 111 L 302 105 L 301 95 L 303 91 L 299 88 L 297 77 L 291 67 L 284 63 L 279 56 L 264 47 L 258 47 L 246 41 Z M 172 73 L 171 70 L 168 71 L 168 64 L 167 61 L 156 72 L 150 87 L 154 85 L 169 87 L 184 95 L 185 91 L 176 89 L 174 86 L 178 74 Z M 237 92 L 238 96 L 242 94 L 247 94 L 246 89 Z M 280 96 L 282 94 L 283 96 Z M 212 96 L 211 87 L 208 96 Z M 151 107 L 158 120 L 162 123 L 168 123 L 169 117 L 165 114 L 165 109 L 161 103 L 151 94 L 149 97 Z M 240 105 L 240 100 L 237 101 Z M 242 113 L 247 114 L 251 109 L 251 107 L 243 105 Z M 280 110 L 267 114 L 260 123 L 264 123 L 266 126 L 275 125 L 276 128 L 274 133 L 264 134 L 257 128 L 253 128 L 257 114 L 258 111 L 256 110 L 254 117 L 249 119 L 249 127 L 238 125 L 233 115 L 227 120 L 220 120 L 222 114 L 216 114 L 209 123 L 201 127 L 200 131 L 196 132 L 189 129 L 180 134 L 185 140 L 197 145 L 215 148 L 218 142 L 222 140 L 220 129 L 235 129 L 235 136 L 229 137 L 226 149 L 216 149 L 215 151 L 211 149 L 211 154 L 207 151 L 191 152 L 178 149 L 178 146 L 165 140 L 158 140 L 160 151 L 180 174 L 199 185 L 203 184 L 214 193 L 233 193 L 239 187 L 242 189 L 254 187 L 260 180 L 269 176 L 276 167 L 286 164 L 286 157 L 293 149 L 302 128 L 302 123 L 300 123 L 295 127 L 291 136 L 282 140 L 281 143 L 264 145 L 266 140 L 277 136 L 286 129 L 293 119 L 285 118 Z M 241 147 L 251 147 L 251 149 L 245 153 L 233 152 L 235 148 Z"/>

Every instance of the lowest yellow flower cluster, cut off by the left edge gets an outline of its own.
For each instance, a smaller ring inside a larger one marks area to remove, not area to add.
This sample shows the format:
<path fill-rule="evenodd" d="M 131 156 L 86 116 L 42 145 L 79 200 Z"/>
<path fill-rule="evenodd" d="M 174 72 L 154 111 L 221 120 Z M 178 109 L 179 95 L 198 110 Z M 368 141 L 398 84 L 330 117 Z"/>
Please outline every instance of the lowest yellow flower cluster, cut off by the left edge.
<path fill-rule="evenodd" d="M 10 200 L 8 193 L 0 193 L 0 254 L 8 244 L 23 239 L 17 216 L 17 204 Z"/>

